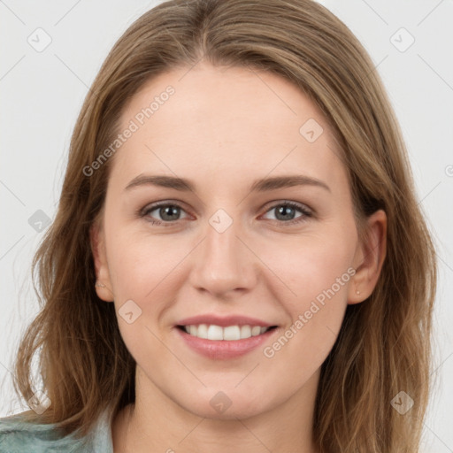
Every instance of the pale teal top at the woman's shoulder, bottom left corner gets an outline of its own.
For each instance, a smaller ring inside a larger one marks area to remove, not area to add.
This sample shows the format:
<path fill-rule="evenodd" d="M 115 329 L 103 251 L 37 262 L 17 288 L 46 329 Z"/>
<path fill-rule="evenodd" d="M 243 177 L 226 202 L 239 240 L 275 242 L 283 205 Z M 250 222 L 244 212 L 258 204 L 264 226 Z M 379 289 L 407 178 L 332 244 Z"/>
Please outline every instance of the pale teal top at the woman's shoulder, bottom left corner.
<path fill-rule="evenodd" d="M 25 422 L 20 414 L 0 418 L 0 453 L 113 453 L 111 417 L 104 411 L 85 437 L 58 437 L 54 425 Z"/>

